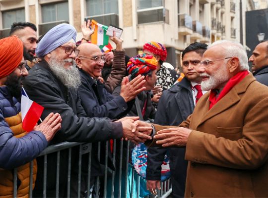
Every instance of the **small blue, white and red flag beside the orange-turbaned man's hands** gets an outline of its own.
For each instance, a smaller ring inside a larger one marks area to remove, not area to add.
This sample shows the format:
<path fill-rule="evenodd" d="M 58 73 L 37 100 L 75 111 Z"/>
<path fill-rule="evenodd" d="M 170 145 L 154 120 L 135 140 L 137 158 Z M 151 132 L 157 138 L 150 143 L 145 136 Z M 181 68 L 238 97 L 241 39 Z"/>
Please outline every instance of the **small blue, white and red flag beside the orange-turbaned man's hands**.
<path fill-rule="evenodd" d="M 37 121 L 40 119 L 43 110 L 43 106 L 29 99 L 24 88 L 22 87 L 20 111 L 22 118 L 22 128 L 25 131 L 30 132 L 33 130 Z"/>

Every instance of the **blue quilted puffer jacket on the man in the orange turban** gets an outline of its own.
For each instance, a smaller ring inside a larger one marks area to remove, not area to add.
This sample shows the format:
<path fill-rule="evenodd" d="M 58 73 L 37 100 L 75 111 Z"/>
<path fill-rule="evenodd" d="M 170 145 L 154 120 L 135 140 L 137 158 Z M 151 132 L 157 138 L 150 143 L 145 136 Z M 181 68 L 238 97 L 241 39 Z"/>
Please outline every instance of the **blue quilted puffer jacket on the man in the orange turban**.
<path fill-rule="evenodd" d="M 40 131 L 15 138 L 5 118 L 20 112 L 20 103 L 10 96 L 7 87 L 0 87 L 0 168 L 12 169 L 37 157 L 48 142 Z"/>

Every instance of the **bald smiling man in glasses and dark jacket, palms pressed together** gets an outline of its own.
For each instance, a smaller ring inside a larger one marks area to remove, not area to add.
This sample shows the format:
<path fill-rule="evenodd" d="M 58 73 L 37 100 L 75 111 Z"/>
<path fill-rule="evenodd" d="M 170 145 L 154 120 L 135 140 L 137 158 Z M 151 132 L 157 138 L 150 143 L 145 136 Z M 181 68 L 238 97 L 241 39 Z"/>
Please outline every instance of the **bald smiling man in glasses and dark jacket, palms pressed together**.
<path fill-rule="evenodd" d="M 76 64 L 80 69 L 81 85 L 79 95 L 81 104 L 89 117 L 121 118 L 126 115 L 134 104 L 134 98 L 143 91 L 138 83 L 138 78 L 128 82 L 124 78 L 120 96 L 114 97 L 104 89 L 104 85 L 98 80 L 106 61 L 99 47 L 94 44 L 81 44 Z"/>

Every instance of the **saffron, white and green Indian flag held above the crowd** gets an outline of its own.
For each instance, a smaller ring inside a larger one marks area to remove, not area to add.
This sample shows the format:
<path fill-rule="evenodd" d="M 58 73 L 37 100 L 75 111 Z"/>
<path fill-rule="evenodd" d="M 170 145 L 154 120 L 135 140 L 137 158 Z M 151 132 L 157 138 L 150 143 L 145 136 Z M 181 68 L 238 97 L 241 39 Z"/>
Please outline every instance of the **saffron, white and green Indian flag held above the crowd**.
<path fill-rule="evenodd" d="M 95 31 L 91 35 L 91 43 L 98 46 L 106 46 L 109 42 L 109 36 L 106 35 L 108 27 L 102 24 L 99 24 L 97 21 L 92 20 L 92 28 L 95 26 Z"/>

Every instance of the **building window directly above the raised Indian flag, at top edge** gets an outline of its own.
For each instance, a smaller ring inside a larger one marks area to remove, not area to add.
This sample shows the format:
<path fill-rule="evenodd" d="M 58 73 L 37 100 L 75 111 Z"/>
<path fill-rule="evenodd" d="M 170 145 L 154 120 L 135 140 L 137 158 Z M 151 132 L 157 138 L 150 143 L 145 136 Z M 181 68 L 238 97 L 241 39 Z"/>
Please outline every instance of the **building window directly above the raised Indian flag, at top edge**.
<path fill-rule="evenodd" d="M 86 15 L 98 23 L 119 26 L 118 0 L 86 0 Z"/>

